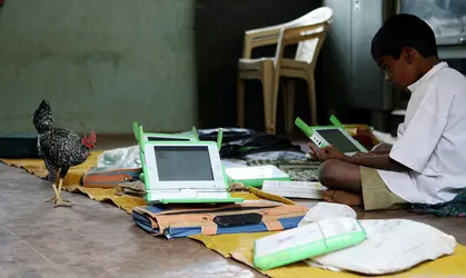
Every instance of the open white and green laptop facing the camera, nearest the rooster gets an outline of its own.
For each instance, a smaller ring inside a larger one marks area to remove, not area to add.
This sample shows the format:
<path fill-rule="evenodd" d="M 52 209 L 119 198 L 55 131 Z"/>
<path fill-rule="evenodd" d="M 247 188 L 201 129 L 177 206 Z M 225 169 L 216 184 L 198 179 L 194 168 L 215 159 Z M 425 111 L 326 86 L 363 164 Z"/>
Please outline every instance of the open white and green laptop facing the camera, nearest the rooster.
<path fill-rule="evenodd" d="M 146 201 L 150 205 L 242 202 L 242 198 L 231 198 L 228 191 L 219 153 L 221 133 L 220 129 L 219 142 L 138 140 Z"/>

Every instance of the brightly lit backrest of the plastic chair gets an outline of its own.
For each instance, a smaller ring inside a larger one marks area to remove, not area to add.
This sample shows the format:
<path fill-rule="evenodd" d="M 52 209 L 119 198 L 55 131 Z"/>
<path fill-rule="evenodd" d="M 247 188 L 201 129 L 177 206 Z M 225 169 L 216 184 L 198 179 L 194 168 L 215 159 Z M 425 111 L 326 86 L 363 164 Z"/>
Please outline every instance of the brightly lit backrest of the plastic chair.
<path fill-rule="evenodd" d="M 323 32 L 325 24 L 331 23 L 333 13 L 334 12 L 330 8 L 320 7 L 294 21 L 285 23 L 284 28 L 286 29 L 324 23 L 321 27 L 317 27 L 315 29 L 303 32 L 303 36 Z M 324 31 L 323 34 L 317 38 L 299 42 L 295 59 L 307 63 L 315 62 L 324 43 L 325 36 L 326 32 Z"/>

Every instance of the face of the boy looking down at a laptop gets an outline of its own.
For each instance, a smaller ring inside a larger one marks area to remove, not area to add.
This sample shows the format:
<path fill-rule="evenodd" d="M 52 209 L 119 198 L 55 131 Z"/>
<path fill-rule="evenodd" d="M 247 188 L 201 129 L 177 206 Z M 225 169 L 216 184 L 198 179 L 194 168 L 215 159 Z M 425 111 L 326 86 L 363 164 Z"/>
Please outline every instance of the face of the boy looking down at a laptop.
<path fill-rule="evenodd" d="M 383 56 L 376 62 L 385 72 L 385 79 L 399 89 L 405 89 L 417 80 L 417 71 L 414 61 L 417 52 L 404 48 L 399 59 L 391 56 Z"/>

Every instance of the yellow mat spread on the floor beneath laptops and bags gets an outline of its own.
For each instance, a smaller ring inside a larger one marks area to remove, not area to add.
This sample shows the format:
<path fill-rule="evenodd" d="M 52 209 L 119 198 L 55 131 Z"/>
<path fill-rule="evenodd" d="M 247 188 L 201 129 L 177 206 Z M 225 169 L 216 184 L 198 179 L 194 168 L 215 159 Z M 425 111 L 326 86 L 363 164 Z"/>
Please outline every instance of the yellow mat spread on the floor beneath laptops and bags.
<path fill-rule="evenodd" d="M 133 207 L 146 205 L 142 198 L 130 196 L 118 196 L 116 189 L 98 189 L 98 188 L 83 188 L 80 187 L 81 176 L 89 170 L 90 167 L 97 166 L 97 160 L 101 151 L 92 151 L 88 160 L 69 170 L 65 181 L 63 189 L 71 192 L 82 192 L 89 198 L 97 201 L 111 201 L 117 207 L 131 212 Z M 47 169 L 43 161 L 40 159 L 0 159 L 0 161 L 23 168 L 28 172 L 36 175 L 39 178 L 47 177 Z M 237 192 L 232 193 L 234 197 L 241 197 L 245 199 L 261 199 L 269 198 L 260 190 L 251 190 L 251 192 Z M 274 198 L 275 199 L 275 198 Z M 290 201 L 285 198 L 276 199 L 289 203 Z M 219 236 L 194 236 L 190 237 L 195 240 L 201 241 L 209 249 L 212 249 L 226 258 L 234 258 L 249 267 L 252 266 L 252 246 L 254 241 L 260 237 L 271 235 L 274 231 L 255 232 L 255 234 L 232 234 Z M 396 277 L 466 277 L 466 247 L 458 245 L 453 256 L 448 256 L 435 261 L 425 262 L 416 268 L 397 275 Z M 303 262 L 294 264 L 287 267 L 281 267 L 262 274 L 269 277 L 280 278 L 299 278 L 299 277 L 356 277 L 354 274 L 347 272 L 333 272 L 318 268 L 311 268 Z M 394 277 L 394 276 L 390 276 Z"/>

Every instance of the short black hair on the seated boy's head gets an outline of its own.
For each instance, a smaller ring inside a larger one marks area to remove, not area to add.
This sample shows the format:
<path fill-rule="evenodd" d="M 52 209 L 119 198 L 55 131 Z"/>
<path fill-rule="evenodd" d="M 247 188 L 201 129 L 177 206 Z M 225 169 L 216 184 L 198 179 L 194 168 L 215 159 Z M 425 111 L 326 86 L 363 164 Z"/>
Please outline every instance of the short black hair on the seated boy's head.
<path fill-rule="evenodd" d="M 416 16 L 399 13 L 389 18 L 377 31 L 370 51 L 374 59 L 383 56 L 399 59 L 404 47 L 416 49 L 424 58 L 438 56 L 432 28 Z"/>

